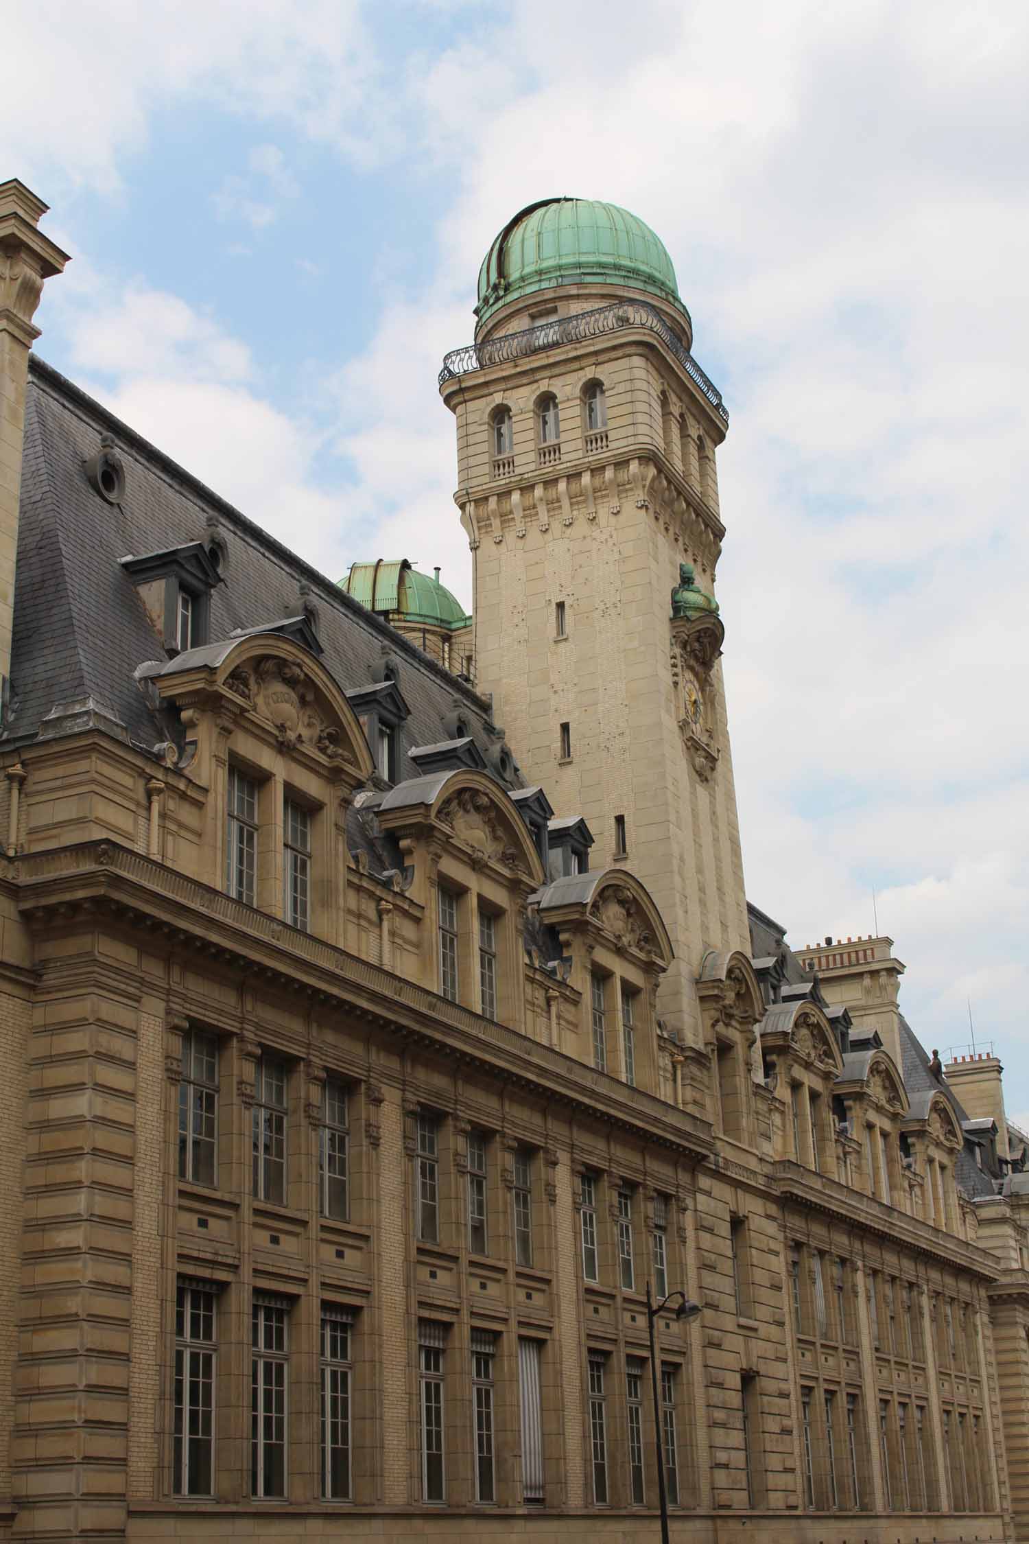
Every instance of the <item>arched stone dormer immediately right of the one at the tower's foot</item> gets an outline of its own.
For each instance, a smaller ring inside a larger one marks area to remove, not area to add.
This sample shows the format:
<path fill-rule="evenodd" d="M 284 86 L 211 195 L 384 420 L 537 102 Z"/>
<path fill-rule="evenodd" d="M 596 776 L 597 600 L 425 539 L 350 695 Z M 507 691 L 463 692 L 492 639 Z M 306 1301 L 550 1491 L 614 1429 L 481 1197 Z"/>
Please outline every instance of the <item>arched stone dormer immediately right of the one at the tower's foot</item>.
<path fill-rule="evenodd" d="M 842 1055 L 825 1013 L 805 997 L 774 1002 L 759 1036 L 765 1084 L 782 1104 L 776 1156 L 839 1175 L 833 1084 Z"/>

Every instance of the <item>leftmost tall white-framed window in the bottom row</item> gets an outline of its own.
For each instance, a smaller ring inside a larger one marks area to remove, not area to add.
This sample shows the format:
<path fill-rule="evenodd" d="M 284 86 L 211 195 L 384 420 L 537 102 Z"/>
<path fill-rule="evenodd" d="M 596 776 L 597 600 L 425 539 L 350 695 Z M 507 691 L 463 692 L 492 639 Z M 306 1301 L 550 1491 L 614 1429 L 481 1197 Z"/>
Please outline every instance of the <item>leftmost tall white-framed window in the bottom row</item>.
<path fill-rule="evenodd" d="M 214 1492 L 214 1294 L 179 1283 L 174 1312 L 176 1496 Z"/>

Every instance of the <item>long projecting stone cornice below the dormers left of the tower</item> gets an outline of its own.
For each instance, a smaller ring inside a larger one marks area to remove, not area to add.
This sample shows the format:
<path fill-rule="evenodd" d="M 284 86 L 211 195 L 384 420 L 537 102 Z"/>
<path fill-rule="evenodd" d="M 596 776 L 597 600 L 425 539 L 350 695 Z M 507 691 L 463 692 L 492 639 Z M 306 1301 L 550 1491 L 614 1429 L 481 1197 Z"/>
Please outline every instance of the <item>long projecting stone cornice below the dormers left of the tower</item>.
<path fill-rule="evenodd" d="M 494 1076 L 534 1090 L 640 1138 L 687 1152 L 694 1161 L 713 1146 L 713 1127 L 688 1110 L 566 1056 L 520 1030 L 483 1019 L 426 987 L 358 959 L 222 891 L 119 846 L 83 841 L 25 855 L 14 865 L 17 905 L 29 925 L 52 926 L 91 913 L 139 926 L 168 945 L 191 945 L 210 960 L 236 965 L 319 1002 L 346 1005 L 350 1017 L 478 1062 Z M 94 922 L 97 917 L 94 916 Z"/>

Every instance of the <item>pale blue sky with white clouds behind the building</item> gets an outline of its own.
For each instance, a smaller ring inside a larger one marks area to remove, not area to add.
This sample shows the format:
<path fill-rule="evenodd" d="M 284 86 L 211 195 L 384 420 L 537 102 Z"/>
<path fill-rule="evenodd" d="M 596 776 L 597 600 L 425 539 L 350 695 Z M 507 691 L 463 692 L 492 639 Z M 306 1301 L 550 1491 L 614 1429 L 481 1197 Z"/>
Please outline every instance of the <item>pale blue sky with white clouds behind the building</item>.
<path fill-rule="evenodd" d="M 333 577 L 471 599 L 435 377 L 523 204 L 668 245 L 731 411 L 750 897 L 882 931 L 1029 1122 L 1024 0 L 14 0 L 46 360 Z M 14 32 L 11 34 L 11 28 Z M 14 46 L 12 46 L 14 45 Z"/>

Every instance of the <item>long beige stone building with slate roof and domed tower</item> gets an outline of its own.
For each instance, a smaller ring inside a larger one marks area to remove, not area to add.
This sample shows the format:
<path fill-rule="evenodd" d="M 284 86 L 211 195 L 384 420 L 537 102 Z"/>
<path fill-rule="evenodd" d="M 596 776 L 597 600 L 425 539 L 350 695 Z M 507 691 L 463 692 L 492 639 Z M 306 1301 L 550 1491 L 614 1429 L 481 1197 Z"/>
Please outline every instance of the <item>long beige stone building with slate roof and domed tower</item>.
<path fill-rule="evenodd" d="M 0 1536 L 643 1541 L 659 1450 L 680 1544 L 1021 1536 L 1023 1177 L 889 940 L 747 906 L 657 238 L 523 212 L 444 366 L 491 699 L 29 360 L 42 213 L 0 185 Z M 648 1288 L 700 1306 L 654 1366 Z"/>

